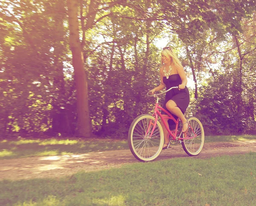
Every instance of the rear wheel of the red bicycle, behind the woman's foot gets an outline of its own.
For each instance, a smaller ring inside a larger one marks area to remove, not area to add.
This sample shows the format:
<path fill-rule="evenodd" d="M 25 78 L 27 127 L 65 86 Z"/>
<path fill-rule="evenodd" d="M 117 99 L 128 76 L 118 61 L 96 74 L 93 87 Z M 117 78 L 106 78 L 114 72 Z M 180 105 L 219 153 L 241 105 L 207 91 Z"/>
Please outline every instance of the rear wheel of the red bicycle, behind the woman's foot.
<path fill-rule="evenodd" d="M 204 128 L 199 119 L 196 117 L 189 117 L 189 130 L 186 133 L 186 137 L 194 137 L 191 139 L 184 139 L 182 140 L 181 144 L 183 147 L 183 150 L 189 155 L 189 156 L 195 156 L 198 155 L 204 146 Z M 183 137 L 185 135 L 183 134 Z"/>

